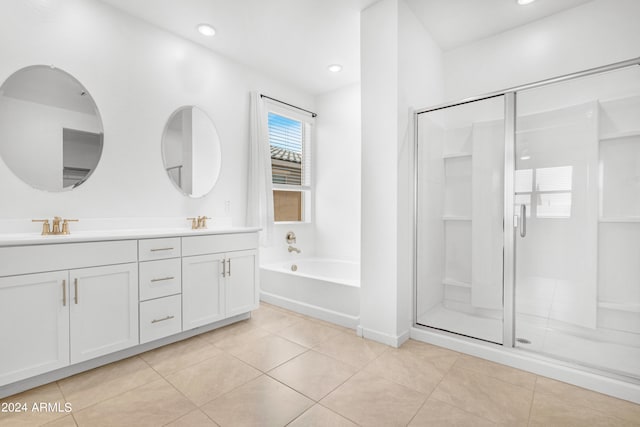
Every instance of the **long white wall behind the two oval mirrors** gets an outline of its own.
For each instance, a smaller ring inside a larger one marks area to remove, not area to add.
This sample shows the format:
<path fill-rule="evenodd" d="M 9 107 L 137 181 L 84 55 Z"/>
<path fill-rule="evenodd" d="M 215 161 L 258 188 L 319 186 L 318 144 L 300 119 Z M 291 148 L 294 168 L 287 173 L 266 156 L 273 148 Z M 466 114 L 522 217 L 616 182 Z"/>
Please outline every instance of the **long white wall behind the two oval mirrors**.
<path fill-rule="evenodd" d="M 250 91 L 311 110 L 313 97 L 98 1 L 35 3 L 0 5 L 0 81 L 34 64 L 72 74 L 100 110 L 104 151 L 65 193 L 34 190 L 0 162 L 0 218 L 222 217 L 230 201 L 228 215 L 244 224 Z M 220 178 L 201 199 L 176 190 L 162 163 L 162 132 L 181 105 L 202 108 L 220 135 Z"/>

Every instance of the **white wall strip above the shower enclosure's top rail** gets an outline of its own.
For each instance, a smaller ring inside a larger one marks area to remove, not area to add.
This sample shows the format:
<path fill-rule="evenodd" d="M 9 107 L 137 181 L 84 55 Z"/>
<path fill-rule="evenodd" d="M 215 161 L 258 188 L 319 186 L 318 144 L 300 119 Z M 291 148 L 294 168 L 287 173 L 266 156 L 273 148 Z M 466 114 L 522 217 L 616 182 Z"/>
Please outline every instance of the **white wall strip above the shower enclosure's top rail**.
<path fill-rule="evenodd" d="M 638 57 L 638 17 L 638 0 L 594 0 L 448 51 L 446 97 L 453 101 Z"/>

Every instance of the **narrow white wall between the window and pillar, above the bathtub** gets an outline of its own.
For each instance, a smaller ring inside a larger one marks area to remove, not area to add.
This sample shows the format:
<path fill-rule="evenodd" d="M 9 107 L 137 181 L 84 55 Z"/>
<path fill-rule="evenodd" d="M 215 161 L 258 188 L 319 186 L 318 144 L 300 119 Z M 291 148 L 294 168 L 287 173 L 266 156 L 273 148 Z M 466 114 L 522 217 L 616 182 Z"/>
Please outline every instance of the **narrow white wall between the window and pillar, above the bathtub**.
<path fill-rule="evenodd" d="M 316 255 L 360 260 L 360 85 L 316 98 Z"/>

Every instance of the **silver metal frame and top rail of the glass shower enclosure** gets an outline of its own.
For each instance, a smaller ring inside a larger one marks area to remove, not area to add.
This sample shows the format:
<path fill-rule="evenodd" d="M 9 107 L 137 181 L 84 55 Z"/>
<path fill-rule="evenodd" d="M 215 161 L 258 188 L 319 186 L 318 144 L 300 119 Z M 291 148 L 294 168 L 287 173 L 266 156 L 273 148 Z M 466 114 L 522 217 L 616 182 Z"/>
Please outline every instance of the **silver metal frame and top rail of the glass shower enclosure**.
<path fill-rule="evenodd" d="M 418 324 L 418 116 L 446 108 L 452 108 L 463 104 L 469 104 L 484 99 L 504 96 L 504 227 L 503 227 L 503 342 L 502 347 L 515 346 L 515 239 L 516 218 L 514 210 L 514 185 L 515 185 L 515 150 L 516 150 L 516 103 L 517 94 L 520 91 L 547 86 L 554 83 L 588 77 L 596 74 L 614 71 L 622 68 L 640 66 L 640 57 L 626 61 L 615 62 L 601 67 L 590 68 L 576 73 L 565 74 L 550 79 L 540 80 L 509 89 L 491 92 L 484 95 L 473 96 L 459 101 L 448 102 L 436 106 L 415 110 L 413 112 L 413 324 L 415 328 L 430 329 L 434 332 L 440 330 Z M 450 332 L 455 334 L 455 332 Z M 460 336 L 459 334 L 456 334 Z M 462 336 L 461 336 L 462 337 Z M 473 338 L 473 337 L 471 337 Z M 473 338 L 479 339 L 479 338 Z M 500 344 L 497 344 L 500 345 Z"/>

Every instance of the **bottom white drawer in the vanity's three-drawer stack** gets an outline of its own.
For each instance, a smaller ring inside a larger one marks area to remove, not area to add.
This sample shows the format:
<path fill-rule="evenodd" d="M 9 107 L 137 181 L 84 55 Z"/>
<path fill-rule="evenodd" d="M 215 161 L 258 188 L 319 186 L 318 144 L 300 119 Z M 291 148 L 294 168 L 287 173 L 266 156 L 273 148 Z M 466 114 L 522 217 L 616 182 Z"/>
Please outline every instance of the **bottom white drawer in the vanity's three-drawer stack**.
<path fill-rule="evenodd" d="M 140 344 L 182 331 L 180 295 L 140 303 Z"/>

